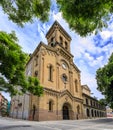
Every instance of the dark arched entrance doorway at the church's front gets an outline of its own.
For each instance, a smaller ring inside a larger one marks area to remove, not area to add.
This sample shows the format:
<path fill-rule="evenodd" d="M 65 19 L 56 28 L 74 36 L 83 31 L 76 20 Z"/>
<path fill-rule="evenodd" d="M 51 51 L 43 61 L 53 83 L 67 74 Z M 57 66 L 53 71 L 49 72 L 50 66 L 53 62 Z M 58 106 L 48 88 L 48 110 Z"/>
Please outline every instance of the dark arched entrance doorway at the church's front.
<path fill-rule="evenodd" d="M 71 115 L 70 105 L 68 103 L 64 103 L 64 105 L 62 107 L 63 120 L 69 120 L 70 115 Z"/>

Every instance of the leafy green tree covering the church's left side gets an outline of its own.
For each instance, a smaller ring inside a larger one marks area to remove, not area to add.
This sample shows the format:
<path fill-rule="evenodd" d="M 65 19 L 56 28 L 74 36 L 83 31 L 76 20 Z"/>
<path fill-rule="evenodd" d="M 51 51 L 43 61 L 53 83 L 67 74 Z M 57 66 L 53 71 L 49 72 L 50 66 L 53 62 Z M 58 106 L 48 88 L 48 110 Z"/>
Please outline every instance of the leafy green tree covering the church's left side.
<path fill-rule="evenodd" d="M 43 90 L 38 79 L 25 76 L 28 55 L 21 50 L 17 42 L 14 32 L 7 34 L 0 31 L 0 91 L 16 95 L 21 86 L 21 92 L 29 91 L 40 96 Z"/>

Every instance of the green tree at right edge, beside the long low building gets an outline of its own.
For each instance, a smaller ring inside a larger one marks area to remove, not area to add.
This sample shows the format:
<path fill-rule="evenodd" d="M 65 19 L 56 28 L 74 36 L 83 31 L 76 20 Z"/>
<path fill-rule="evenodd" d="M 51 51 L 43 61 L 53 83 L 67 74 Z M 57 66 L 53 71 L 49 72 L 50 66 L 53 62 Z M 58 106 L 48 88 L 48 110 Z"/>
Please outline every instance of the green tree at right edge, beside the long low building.
<path fill-rule="evenodd" d="M 98 90 L 105 95 L 108 105 L 113 108 L 113 53 L 108 63 L 96 72 Z"/>

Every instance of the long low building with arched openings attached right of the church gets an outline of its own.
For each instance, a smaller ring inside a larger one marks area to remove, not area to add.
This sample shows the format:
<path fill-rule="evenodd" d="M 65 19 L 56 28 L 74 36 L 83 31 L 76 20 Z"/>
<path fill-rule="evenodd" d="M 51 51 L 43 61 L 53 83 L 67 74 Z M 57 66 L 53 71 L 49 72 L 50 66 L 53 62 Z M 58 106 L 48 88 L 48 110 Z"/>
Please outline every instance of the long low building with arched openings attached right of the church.
<path fill-rule="evenodd" d="M 84 118 L 106 117 L 106 108 L 99 104 L 98 100 L 91 97 L 91 91 L 87 85 L 83 87 Z"/>

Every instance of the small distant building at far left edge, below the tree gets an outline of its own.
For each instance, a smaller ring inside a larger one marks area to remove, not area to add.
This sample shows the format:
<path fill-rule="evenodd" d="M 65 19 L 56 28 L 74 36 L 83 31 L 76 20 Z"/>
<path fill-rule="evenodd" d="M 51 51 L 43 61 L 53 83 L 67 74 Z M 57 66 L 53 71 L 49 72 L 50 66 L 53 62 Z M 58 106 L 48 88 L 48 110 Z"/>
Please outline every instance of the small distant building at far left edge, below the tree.
<path fill-rule="evenodd" d="M 7 115 L 8 100 L 0 93 L 0 115 Z"/>

